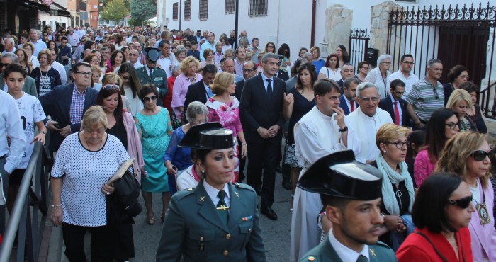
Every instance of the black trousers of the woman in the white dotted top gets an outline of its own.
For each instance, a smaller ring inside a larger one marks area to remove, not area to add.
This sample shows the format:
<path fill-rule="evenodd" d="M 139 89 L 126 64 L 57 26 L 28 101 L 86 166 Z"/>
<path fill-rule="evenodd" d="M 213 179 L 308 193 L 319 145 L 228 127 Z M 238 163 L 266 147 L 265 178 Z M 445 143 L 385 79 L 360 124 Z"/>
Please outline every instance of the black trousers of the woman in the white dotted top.
<path fill-rule="evenodd" d="M 65 256 L 69 258 L 69 261 L 86 262 L 86 254 L 84 254 L 86 230 L 91 232 L 91 262 L 113 261 L 112 249 L 108 245 L 111 241 L 108 226 L 82 227 L 62 222 Z"/>

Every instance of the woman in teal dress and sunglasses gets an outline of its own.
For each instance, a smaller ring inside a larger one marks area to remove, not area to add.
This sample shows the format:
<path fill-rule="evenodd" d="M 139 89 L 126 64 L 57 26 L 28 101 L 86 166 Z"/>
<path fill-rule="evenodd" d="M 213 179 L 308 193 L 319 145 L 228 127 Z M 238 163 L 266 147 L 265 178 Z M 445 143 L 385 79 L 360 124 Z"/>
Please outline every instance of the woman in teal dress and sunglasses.
<path fill-rule="evenodd" d="M 162 156 L 169 146 L 172 135 L 171 118 L 167 109 L 157 106 L 159 92 L 153 84 L 147 84 L 140 89 L 140 98 L 145 106 L 136 114 L 137 130 L 141 133 L 145 173 L 141 180 L 141 191 L 147 208 L 147 223 L 155 224 L 152 193 L 162 193 L 162 215 L 169 207 L 171 193 L 167 182 L 167 169 Z"/>

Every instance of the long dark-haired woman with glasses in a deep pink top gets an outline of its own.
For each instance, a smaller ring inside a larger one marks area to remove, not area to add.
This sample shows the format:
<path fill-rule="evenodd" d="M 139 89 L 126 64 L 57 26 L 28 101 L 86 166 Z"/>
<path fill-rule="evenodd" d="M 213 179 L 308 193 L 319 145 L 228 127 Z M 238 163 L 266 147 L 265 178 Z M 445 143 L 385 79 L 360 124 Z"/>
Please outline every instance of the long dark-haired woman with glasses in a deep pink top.
<path fill-rule="evenodd" d="M 436 168 L 437 158 L 444 149 L 444 144 L 460 131 L 458 117 L 448 108 L 439 108 L 432 113 L 425 135 L 425 148 L 422 149 L 413 164 L 413 176 L 417 187 Z"/>

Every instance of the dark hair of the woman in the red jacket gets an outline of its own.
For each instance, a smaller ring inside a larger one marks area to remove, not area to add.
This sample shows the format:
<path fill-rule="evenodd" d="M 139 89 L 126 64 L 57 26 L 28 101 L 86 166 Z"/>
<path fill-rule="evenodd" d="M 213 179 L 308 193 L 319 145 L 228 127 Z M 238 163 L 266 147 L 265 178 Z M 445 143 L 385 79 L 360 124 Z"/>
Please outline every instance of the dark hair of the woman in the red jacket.
<path fill-rule="evenodd" d="M 429 175 L 415 197 L 412 207 L 412 220 L 419 229 L 439 233 L 444 230 L 456 232 L 449 224 L 445 207 L 453 191 L 460 186 L 461 176 L 453 173 L 432 173 Z"/>

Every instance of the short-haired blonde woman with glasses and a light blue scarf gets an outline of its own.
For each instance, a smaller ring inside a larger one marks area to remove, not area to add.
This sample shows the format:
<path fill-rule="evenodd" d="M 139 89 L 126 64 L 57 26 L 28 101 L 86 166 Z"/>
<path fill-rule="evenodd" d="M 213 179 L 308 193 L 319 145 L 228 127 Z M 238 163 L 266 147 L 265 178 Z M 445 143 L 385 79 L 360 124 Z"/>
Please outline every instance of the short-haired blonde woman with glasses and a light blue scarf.
<path fill-rule="evenodd" d="M 413 232 L 412 205 L 415 200 L 413 181 L 405 162 L 407 135 L 410 130 L 395 124 L 384 124 L 377 130 L 376 145 L 380 151 L 371 162 L 383 173 L 381 215 L 389 233 L 379 239 L 396 251 Z"/>

